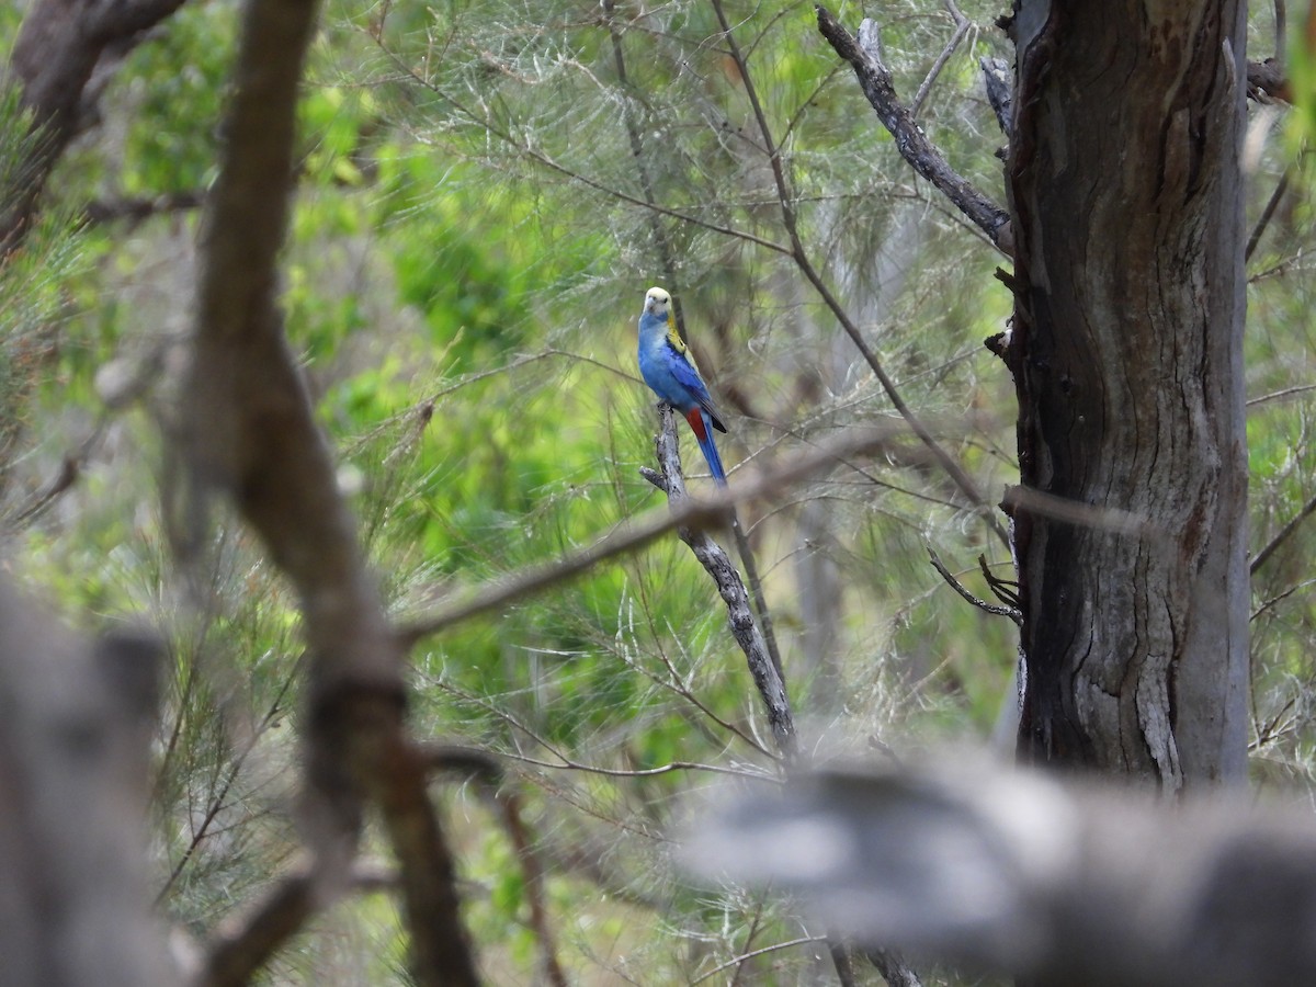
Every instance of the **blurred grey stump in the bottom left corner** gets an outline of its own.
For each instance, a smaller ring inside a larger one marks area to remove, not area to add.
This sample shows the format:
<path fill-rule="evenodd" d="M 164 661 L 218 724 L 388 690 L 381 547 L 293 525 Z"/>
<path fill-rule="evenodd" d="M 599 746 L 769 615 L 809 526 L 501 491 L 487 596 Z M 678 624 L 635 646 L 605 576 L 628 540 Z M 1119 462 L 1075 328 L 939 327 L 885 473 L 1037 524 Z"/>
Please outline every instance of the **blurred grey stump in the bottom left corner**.
<path fill-rule="evenodd" d="M 88 644 L 0 580 L 0 987 L 180 982 L 146 886 L 161 655 Z"/>

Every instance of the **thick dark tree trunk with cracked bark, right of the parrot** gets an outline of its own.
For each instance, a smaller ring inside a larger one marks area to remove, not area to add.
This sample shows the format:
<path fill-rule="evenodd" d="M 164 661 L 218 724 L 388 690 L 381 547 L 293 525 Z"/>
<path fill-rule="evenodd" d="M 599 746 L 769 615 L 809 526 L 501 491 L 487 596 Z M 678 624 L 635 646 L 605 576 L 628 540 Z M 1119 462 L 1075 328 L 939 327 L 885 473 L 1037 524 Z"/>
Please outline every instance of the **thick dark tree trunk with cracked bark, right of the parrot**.
<path fill-rule="evenodd" d="M 1020 754 L 1246 770 L 1244 5 L 1019 0 Z"/>

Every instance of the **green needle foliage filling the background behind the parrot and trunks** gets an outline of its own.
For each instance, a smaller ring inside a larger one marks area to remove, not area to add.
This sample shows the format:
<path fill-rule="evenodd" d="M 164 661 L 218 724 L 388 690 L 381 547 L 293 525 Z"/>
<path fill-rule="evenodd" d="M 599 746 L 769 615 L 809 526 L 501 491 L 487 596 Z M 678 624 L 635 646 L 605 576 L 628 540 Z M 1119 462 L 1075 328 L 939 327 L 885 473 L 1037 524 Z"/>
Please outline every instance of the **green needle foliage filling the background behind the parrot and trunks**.
<path fill-rule="evenodd" d="M 1008 49 L 996 5 L 959 9 L 973 26 L 934 78 L 955 33 L 942 4 L 863 14 L 907 103 L 930 79 L 924 129 L 995 193 L 1004 138 L 978 62 Z M 97 139 L 62 162 L 47 217 L 204 191 L 234 17 L 184 7 L 134 50 Z M 894 418 L 801 259 L 978 488 L 994 500 L 1017 475 L 1011 383 L 982 346 L 1009 312 L 1000 258 L 903 164 L 809 4 L 334 3 L 301 126 L 288 336 L 400 621 L 662 505 L 638 472 L 657 416 L 634 367 L 655 283 L 726 412 L 732 484 Z M 1298 159 L 1270 126 L 1250 215 Z M 1258 550 L 1312 495 L 1299 179 L 1249 268 Z M 301 655 L 295 601 L 236 524 L 203 571 L 184 579 L 171 557 L 161 436 L 195 224 L 187 208 L 66 224 L 32 241 L 51 258 L 45 278 L 0 274 L 0 508 L 24 575 L 71 619 L 146 613 L 168 634 L 151 853 L 162 908 L 204 938 L 297 846 Z M 1012 625 L 951 592 L 928 547 L 982 597 L 979 555 L 1005 579 L 1009 557 L 898 434 L 742 515 L 804 744 L 821 755 L 984 738 L 1013 674 Z M 695 451 L 686 440 L 696 491 L 711 491 Z M 46 497 L 66 459 L 76 480 Z M 1288 780 L 1311 763 L 1309 547 L 1288 538 L 1255 584 L 1254 762 Z M 675 537 L 412 657 L 417 733 L 505 758 L 574 982 L 720 980 L 759 950 L 745 961 L 755 983 L 811 975 L 825 949 L 787 905 L 688 886 L 669 861 L 683 796 L 778 767 L 716 590 Z M 534 982 L 544 929 L 500 812 L 476 786 L 441 780 L 436 795 L 488 980 Z M 271 976 L 391 982 L 403 951 L 390 900 L 365 896 L 318 919 Z"/>

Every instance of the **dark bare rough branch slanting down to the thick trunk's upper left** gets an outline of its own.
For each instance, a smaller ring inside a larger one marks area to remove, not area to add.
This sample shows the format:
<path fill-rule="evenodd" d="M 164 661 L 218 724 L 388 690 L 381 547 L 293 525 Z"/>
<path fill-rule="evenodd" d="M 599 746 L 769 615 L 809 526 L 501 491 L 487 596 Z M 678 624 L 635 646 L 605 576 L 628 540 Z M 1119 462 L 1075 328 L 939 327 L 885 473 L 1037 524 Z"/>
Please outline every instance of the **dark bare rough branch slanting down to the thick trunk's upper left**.
<path fill-rule="evenodd" d="M 859 25 L 859 39 L 855 41 L 825 7 L 817 8 L 817 17 L 819 30 L 836 53 L 854 68 L 863 95 L 869 97 L 869 103 L 878 112 L 878 118 L 891 132 L 900 155 L 986 233 L 998 250 L 1009 257 L 1015 249 L 1009 216 L 974 188 L 967 179 L 955 174 L 946 163 L 945 155 L 923 133 L 913 113 L 901 105 L 891 84 L 891 72 L 878 54 L 876 25 L 865 20 Z"/>

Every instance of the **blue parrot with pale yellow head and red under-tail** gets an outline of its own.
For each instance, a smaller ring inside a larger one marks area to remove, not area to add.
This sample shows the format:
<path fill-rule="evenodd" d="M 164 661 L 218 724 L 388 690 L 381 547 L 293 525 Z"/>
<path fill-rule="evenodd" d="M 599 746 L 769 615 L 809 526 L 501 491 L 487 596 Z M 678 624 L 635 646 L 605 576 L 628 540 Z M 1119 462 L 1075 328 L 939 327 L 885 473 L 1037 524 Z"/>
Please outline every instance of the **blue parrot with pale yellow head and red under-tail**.
<path fill-rule="evenodd" d="M 713 429 L 725 432 L 708 396 L 695 362 L 671 320 L 671 295 L 662 288 L 645 293 L 645 308 L 640 313 L 640 375 L 653 392 L 686 416 L 695 433 L 695 441 L 708 461 L 708 468 L 719 486 L 726 486 L 726 471 L 713 445 Z"/>

